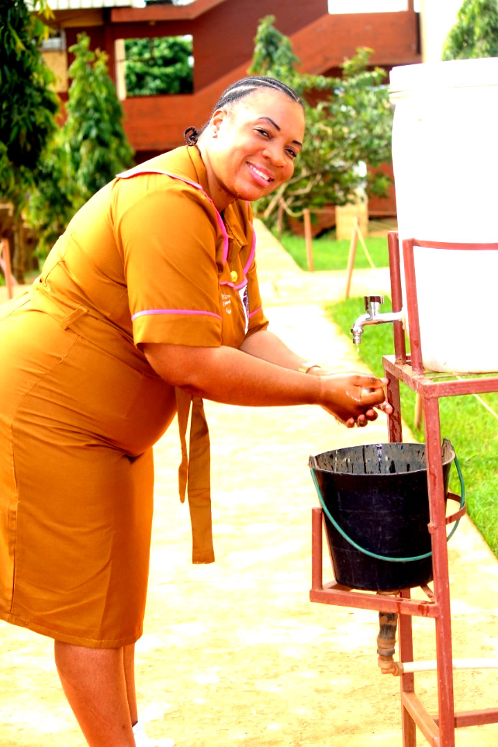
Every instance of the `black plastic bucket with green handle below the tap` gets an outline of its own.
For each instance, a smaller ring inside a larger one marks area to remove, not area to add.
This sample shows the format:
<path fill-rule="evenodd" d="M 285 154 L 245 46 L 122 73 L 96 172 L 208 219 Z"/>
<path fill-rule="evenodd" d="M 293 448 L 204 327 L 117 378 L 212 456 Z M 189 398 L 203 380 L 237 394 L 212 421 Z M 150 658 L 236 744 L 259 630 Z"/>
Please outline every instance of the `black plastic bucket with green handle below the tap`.
<path fill-rule="evenodd" d="M 441 453 L 447 495 L 455 451 L 446 438 Z M 324 511 L 337 583 L 389 592 L 432 580 L 425 444 L 367 444 L 326 451 L 310 456 L 310 468 L 323 505 L 342 530 Z M 390 561 L 372 554 L 429 557 Z"/>

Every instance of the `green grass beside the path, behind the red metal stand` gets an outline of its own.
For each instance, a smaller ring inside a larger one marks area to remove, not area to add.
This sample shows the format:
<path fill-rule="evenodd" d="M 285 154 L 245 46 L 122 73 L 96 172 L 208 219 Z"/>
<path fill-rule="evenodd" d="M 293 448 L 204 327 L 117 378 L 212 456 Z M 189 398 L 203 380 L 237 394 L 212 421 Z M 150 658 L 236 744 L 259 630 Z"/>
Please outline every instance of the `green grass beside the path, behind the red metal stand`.
<path fill-rule="evenodd" d="M 382 310 L 390 311 L 390 308 L 390 300 L 386 298 Z M 337 326 L 349 335 L 355 318 L 364 313 L 363 299 L 351 298 L 328 306 L 326 310 Z M 379 324 L 364 330 L 359 353 L 373 373 L 383 375 L 382 356 L 393 352 L 392 325 Z M 400 385 L 399 389 L 403 420 L 414 436 L 423 441 L 423 431 L 414 427 L 414 391 L 405 385 Z M 498 412 L 498 392 L 480 396 Z M 498 556 L 498 421 L 470 394 L 441 397 L 439 406 L 441 436 L 452 442 L 464 476 L 467 512 Z M 460 495 L 455 468 L 452 468 L 450 489 Z M 458 530 L 452 542 L 458 542 Z"/>

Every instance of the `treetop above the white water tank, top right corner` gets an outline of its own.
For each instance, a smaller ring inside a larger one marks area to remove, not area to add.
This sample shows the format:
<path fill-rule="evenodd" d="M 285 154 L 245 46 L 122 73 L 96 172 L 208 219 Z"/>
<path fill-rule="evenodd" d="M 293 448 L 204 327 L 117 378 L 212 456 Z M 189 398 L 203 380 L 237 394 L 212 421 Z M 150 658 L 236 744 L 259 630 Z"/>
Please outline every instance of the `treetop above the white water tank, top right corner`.
<path fill-rule="evenodd" d="M 464 0 L 443 46 L 442 60 L 498 57 L 497 0 Z"/>

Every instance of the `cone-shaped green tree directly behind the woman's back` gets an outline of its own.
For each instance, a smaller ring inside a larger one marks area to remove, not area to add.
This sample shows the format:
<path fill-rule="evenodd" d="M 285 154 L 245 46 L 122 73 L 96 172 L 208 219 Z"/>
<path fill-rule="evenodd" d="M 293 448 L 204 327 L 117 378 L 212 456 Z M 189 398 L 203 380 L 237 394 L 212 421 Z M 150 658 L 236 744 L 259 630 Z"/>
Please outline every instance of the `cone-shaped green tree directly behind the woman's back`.
<path fill-rule="evenodd" d="M 38 232 L 37 255 L 46 257 L 72 215 L 116 173 L 131 166 L 133 151 L 122 127 L 123 112 L 108 75 L 104 52 L 90 51 L 87 34 L 69 48 L 75 60 L 66 104 L 36 173 L 28 220 Z"/>

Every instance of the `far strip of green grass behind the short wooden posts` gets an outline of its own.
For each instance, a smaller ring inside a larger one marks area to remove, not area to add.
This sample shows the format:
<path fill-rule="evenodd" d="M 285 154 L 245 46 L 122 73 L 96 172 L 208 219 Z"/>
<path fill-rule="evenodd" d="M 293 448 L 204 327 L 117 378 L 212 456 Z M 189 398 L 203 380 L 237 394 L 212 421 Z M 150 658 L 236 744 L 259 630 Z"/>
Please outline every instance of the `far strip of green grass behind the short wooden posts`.
<path fill-rule="evenodd" d="M 290 254 L 302 270 L 308 270 L 305 240 L 301 236 L 283 234 L 279 238 L 284 249 Z M 389 267 L 387 238 L 367 237 L 367 250 L 376 267 Z M 346 270 L 349 256 L 349 239 L 337 241 L 335 232 L 329 231 L 313 240 L 314 270 Z M 360 242 L 356 247 L 355 267 L 370 267 Z"/>

